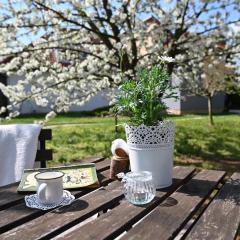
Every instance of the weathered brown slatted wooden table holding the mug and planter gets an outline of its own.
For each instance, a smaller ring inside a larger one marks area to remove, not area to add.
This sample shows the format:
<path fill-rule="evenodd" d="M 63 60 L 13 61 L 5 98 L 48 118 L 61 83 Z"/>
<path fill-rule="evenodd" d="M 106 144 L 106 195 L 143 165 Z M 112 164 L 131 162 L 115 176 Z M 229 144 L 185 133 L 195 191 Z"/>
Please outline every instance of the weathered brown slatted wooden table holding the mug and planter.
<path fill-rule="evenodd" d="M 101 187 L 74 191 L 75 202 L 51 211 L 30 209 L 17 184 L 0 188 L 0 239 L 236 239 L 240 174 L 175 167 L 173 185 L 145 206 L 129 204 L 111 181 L 108 159 L 95 162 Z"/>

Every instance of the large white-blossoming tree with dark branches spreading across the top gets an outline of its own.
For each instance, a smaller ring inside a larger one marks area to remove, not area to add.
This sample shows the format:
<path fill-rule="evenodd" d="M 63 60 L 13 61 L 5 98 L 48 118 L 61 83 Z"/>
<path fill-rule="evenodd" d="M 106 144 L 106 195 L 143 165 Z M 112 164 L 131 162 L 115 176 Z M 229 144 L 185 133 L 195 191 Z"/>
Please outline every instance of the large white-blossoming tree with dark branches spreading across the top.
<path fill-rule="evenodd" d="M 189 66 L 195 69 L 208 54 L 217 55 L 213 49 L 220 41 L 225 44 L 218 56 L 222 60 L 239 50 L 239 36 L 231 30 L 240 21 L 238 0 L 0 4 L 0 72 L 23 76 L 17 85 L 0 85 L 11 101 L 10 117 L 29 99 L 40 106 L 50 104 L 54 111 L 68 111 L 99 91 L 111 93 L 124 79 L 135 78 L 138 68 L 162 61 L 159 56 L 170 60 L 169 74 L 191 77 Z"/>

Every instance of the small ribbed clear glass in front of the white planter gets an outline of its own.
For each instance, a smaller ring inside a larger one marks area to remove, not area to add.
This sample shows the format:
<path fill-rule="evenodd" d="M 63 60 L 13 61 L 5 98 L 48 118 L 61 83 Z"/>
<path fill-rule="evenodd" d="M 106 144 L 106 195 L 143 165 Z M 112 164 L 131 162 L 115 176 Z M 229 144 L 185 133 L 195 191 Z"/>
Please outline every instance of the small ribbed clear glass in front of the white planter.
<path fill-rule="evenodd" d="M 152 173 L 148 171 L 129 172 L 122 179 L 126 199 L 135 205 L 151 202 L 156 194 Z"/>

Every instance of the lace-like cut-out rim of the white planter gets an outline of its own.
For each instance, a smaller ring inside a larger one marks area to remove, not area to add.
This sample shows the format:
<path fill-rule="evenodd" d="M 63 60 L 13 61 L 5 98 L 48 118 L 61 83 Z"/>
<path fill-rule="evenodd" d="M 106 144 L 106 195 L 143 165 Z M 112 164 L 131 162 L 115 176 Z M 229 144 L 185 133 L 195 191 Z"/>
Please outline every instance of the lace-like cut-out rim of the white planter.
<path fill-rule="evenodd" d="M 158 147 L 159 145 L 173 145 L 175 137 L 175 124 L 171 121 L 158 122 L 156 126 L 125 126 L 127 143 L 145 147 Z"/>

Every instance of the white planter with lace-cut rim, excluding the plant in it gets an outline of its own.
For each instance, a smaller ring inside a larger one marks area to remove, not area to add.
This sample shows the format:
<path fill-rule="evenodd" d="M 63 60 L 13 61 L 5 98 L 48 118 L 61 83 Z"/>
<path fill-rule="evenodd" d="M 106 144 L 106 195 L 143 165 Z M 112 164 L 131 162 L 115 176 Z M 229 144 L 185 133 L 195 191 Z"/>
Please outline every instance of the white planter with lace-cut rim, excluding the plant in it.
<path fill-rule="evenodd" d="M 156 188 L 172 184 L 175 125 L 126 126 L 131 171 L 150 171 Z"/>

